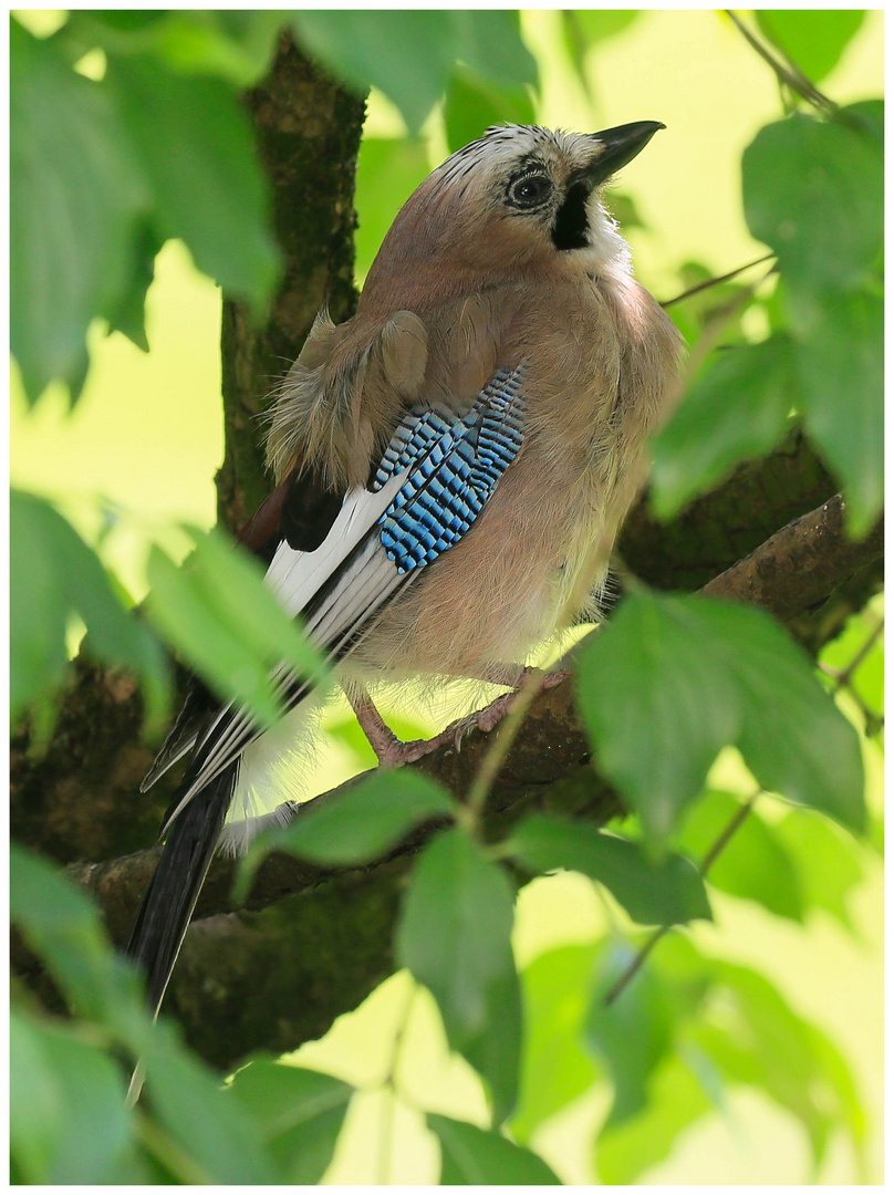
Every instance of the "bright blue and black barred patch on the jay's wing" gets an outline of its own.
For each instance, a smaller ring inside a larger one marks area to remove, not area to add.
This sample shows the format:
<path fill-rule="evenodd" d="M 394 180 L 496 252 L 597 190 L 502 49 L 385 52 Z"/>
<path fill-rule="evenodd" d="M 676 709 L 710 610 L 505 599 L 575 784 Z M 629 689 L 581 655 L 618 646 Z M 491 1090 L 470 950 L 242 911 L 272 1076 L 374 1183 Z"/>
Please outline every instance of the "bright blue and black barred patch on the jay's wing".
<path fill-rule="evenodd" d="M 398 572 L 430 564 L 465 535 L 521 448 L 523 364 L 498 370 L 467 415 L 414 409 L 394 433 L 373 489 L 406 480 L 379 520 Z"/>

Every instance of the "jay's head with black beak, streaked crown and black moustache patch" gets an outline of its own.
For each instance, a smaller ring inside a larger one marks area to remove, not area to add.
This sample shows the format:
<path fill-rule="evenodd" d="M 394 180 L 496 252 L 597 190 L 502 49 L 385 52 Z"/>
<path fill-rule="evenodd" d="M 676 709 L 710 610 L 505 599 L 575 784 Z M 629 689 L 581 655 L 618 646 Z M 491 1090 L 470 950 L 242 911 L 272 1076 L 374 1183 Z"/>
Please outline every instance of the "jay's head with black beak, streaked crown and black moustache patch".
<path fill-rule="evenodd" d="M 594 134 L 535 125 L 488 129 L 410 196 L 369 276 L 430 264 L 497 274 L 625 258 L 602 185 L 665 125 L 638 121 Z"/>

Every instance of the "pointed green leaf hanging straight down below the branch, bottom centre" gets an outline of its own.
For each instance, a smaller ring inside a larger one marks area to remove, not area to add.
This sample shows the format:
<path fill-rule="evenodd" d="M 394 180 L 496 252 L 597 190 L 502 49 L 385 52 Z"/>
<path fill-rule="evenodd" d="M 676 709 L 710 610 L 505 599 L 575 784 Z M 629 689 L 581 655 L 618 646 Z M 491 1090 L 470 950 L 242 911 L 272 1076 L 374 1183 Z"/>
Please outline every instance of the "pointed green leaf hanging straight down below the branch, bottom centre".
<path fill-rule="evenodd" d="M 398 964 L 434 995 L 447 1041 L 488 1080 L 498 1121 L 515 1103 L 521 1048 L 512 926 L 502 869 L 458 829 L 429 842 L 398 924 Z"/>

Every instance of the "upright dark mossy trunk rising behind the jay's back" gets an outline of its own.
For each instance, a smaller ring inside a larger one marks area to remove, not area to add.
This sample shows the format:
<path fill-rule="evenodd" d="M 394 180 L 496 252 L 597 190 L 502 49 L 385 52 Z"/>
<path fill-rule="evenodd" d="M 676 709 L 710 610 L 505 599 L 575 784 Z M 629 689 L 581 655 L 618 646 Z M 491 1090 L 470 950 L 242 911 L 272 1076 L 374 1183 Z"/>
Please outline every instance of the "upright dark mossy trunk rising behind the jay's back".
<path fill-rule="evenodd" d="M 246 96 L 271 184 L 286 270 L 257 325 L 225 300 L 221 358 L 226 456 L 216 477 L 218 517 L 238 531 L 269 491 L 258 416 L 329 304 L 336 323 L 354 310 L 354 177 L 363 100 L 322 74 L 288 33 L 270 75 Z"/>

